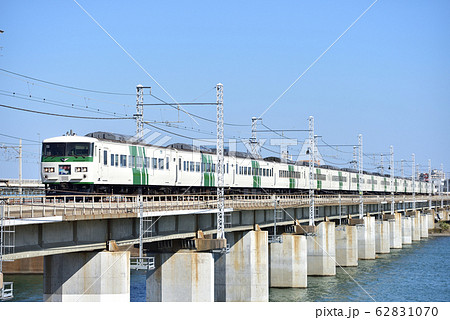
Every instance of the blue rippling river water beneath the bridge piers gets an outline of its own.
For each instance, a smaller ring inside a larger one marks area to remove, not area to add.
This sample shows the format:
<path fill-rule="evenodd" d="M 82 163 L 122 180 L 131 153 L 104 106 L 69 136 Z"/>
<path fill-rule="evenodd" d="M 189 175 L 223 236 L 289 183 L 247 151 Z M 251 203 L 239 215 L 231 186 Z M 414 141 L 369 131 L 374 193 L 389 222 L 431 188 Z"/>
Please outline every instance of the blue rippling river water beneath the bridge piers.
<path fill-rule="evenodd" d="M 269 291 L 270 301 L 415 302 L 450 301 L 450 237 L 433 237 L 391 249 L 358 267 L 336 269 L 333 277 L 308 277 L 306 289 Z M 14 282 L 14 299 L 42 301 L 42 275 L 5 275 Z M 132 272 L 131 301 L 145 301 L 145 274 Z"/>

